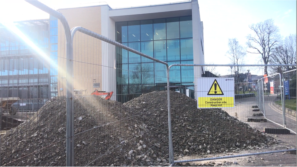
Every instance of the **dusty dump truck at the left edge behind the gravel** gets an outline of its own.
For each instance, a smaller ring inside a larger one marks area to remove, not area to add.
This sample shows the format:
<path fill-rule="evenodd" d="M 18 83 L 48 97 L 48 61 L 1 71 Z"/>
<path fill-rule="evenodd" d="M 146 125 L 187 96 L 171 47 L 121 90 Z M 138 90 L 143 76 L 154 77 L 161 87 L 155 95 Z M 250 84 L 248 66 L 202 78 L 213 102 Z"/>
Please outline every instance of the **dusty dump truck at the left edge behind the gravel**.
<path fill-rule="evenodd" d="M 19 100 L 18 97 L 1 97 L 0 98 L 0 110 L 1 110 L 1 116 L 2 113 L 9 112 L 10 115 L 16 115 L 18 112 L 16 110 L 16 107 L 12 106 L 13 103 L 16 103 Z"/>

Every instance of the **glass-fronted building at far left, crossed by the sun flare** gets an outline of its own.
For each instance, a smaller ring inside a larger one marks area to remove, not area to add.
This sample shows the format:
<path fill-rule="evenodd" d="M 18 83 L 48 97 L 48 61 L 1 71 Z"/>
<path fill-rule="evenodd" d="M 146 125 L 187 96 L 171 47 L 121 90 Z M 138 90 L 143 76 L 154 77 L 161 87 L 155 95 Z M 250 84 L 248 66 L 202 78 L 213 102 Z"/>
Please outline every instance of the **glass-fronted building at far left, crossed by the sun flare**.
<path fill-rule="evenodd" d="M 57 23 L 51 17 L 0 24 L 0 97 L 19 97 L 19 110 L 38 110 L 58 95 Z"/>

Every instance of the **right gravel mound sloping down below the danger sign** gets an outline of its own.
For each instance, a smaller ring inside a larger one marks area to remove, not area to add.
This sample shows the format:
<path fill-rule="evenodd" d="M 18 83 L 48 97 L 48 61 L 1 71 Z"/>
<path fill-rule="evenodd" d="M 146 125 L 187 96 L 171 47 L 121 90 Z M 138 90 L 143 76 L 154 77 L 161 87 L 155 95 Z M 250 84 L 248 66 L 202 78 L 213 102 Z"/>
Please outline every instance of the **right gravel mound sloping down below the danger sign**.
<path fill-rule="evenodd" d="M 160 117 L 167 117 L 166 102 L 167 92 L 155 91 L 124 105 L 138 111 L 157 106 L 165 109 Z M 171 91 L 170 104 L 175 157 L 254 149 L 276 142 L 221 109 L 197 109 L 197 101 L 181 93 Z"/>

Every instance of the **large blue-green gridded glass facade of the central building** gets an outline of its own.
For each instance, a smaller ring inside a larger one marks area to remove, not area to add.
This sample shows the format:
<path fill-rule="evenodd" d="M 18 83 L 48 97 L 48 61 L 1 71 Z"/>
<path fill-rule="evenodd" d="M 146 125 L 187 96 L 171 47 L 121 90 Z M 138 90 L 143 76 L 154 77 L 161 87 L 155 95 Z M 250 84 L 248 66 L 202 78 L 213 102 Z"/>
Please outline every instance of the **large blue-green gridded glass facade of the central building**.
<path fill-rule="evenodd" d="M 192 16 L 116 23 L 116 41 L 171 64 L 193 64 Z M 117 48 L 118 101 L 126 102 L 142 93 L 165 90 L 166 66 Z M 169 71 L 173 90 L 194 85 L 193 67 Z"/>

